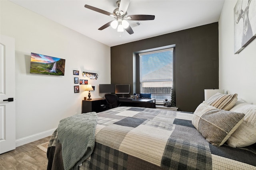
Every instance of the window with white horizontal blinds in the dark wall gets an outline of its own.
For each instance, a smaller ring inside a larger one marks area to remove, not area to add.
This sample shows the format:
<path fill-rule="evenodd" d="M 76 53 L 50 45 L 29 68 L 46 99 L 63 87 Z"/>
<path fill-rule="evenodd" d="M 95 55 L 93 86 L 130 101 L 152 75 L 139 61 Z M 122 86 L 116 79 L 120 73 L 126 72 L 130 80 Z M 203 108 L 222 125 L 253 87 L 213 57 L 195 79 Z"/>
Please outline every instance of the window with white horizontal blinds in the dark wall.
<path fill-rule="evenodd" d="M 139 54 L 140 93 L 157 101 L 170 100 L 173 88 L 173 48 Z"/>

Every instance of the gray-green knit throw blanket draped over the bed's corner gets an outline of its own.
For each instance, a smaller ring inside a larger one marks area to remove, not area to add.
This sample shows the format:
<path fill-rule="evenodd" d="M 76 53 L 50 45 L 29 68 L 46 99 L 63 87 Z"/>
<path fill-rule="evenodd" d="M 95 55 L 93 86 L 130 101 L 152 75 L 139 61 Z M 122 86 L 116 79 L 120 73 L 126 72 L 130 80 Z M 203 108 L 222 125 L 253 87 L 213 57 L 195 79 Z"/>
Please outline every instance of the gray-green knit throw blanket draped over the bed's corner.
<path fill-rule="evenodd" d="M 97 115 L 95 112 L 67 117 L 58 125 L 58 139 L 62 145 L 65 170 L 78 169 L 95 145 Z"/>

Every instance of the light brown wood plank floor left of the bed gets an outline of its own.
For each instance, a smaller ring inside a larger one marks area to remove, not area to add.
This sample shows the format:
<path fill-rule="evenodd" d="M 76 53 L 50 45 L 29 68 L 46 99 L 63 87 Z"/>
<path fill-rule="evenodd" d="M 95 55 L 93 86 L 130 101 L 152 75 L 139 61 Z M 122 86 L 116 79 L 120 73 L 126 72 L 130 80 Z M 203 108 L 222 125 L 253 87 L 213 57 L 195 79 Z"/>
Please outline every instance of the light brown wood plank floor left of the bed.
<path fill-rule="evenodd" d="M 46 137 L 0 154 L 0 170 L 46 170 L 46 152 L 36 146 L 49 140 Z"/>

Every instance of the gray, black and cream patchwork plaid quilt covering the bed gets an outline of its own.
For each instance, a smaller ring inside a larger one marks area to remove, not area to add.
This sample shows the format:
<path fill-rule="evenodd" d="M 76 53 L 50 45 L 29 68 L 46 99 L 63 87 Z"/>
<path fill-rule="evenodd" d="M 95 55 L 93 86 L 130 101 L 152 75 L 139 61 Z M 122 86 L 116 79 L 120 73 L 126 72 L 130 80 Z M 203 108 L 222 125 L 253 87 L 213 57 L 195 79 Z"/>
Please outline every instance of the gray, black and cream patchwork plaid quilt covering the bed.
<path fill-rule="evenodd" d="M 86 157 L 79 157 L 76 166 L 69 164 L 72 168 L 68 169 L 256 170 L 256 144 L 240 148 L 212 145 L 192 124 L 192 112 L 116 107 L 81 115 L 90 114 L 94 120 L 97 117 L 91 127 L 95 138 L 89 142 L 94 146 L 86 145 Z M 58 129 L 48 146 L 48 169 L 67 169 Z M 79 130 L 72 134 L 84 137 Z M 65 145 L 64 149 L 73 150 L 74 146 Z"/>

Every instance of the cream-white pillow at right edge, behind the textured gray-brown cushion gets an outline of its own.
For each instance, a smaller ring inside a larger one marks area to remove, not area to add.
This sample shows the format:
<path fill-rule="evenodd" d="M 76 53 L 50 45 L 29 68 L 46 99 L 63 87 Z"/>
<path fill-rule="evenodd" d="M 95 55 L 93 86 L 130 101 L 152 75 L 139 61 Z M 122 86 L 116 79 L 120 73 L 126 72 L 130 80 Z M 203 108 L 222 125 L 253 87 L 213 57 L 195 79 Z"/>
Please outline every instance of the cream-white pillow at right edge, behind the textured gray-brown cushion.
<path fill-rule="evenodd" d="M 246 147 L 256 143 L 256 105 L 239 100 L 230 111 L 244 113 L 245 116 L 242 124 L 229 137 L 227 144 L 230 147 Z"/>

